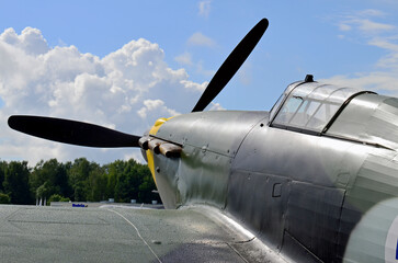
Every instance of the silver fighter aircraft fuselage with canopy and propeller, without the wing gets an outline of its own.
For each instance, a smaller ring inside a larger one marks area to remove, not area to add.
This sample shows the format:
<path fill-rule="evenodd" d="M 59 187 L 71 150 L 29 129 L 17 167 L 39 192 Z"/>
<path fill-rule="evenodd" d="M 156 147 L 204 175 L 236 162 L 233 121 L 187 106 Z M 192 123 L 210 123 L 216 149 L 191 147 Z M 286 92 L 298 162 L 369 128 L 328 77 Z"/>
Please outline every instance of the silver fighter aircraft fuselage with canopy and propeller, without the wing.
<path fill-rule="evenodd" d="M 144 136 L 42 116 L 9 125 L 65 144 L 140 147 L 166 208 L 213 207 L 268 248 L 247 261 L 397 262 L 398 99 L 308 75 L 270 112 L 204 111 L 268 25 L 245 36 L 191 113 Z"/>

